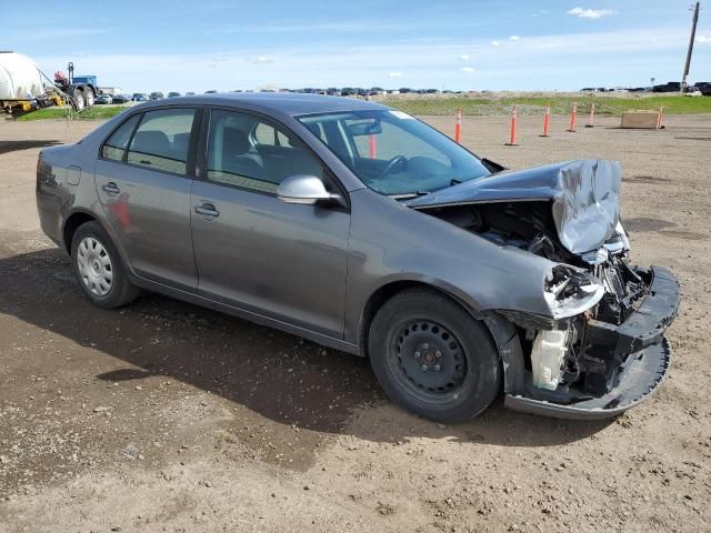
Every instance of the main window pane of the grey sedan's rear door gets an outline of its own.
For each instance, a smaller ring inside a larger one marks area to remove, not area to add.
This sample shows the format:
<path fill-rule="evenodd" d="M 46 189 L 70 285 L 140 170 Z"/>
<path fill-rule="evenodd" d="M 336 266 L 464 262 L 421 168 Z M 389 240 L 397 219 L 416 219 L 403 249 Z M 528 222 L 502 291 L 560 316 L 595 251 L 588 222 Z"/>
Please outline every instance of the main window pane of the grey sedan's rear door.
<path fill-rule="evenodd" d="M 188 171 L 194 109 L 164 109 L 143 114 L 133 134 L 127 161 L 177 174 Z"/>

